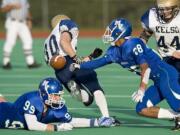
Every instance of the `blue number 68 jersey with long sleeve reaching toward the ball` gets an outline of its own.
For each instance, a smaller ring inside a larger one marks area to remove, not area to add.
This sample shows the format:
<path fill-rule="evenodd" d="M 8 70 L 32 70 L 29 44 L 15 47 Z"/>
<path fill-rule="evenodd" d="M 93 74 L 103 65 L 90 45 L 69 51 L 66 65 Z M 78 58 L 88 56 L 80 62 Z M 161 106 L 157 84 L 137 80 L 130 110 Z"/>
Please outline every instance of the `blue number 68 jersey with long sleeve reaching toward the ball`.
<path fill-rule="evenodd" d="M 147 63 L 151 69 L 151 79 L 156 79 L 154 77 L 159 74 L 157 65 L 168 66 L 140 38 L 131 37 L 120 46 L 110 46 L 102 58 L 82 63 L 80 68 L 96 69 L 110 63 L 117 63 L 123 68 L 137 72 L 137 74 L 140 74 L 139 65 Z"/>

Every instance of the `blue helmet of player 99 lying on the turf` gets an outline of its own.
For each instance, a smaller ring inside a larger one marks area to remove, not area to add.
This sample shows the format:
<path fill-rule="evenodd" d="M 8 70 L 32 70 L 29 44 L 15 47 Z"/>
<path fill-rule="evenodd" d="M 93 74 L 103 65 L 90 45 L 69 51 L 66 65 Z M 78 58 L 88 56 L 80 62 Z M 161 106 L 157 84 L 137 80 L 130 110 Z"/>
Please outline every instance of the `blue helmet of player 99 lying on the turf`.
<path fill-rule="evenodd" d="M 45 78 L 42 80 L 39 84 L 39 92 L 44 104 L 54 109 L 60 109 L 65 105 L 65 100 L 62 98 L 63 87 L 57 79 Z"/>

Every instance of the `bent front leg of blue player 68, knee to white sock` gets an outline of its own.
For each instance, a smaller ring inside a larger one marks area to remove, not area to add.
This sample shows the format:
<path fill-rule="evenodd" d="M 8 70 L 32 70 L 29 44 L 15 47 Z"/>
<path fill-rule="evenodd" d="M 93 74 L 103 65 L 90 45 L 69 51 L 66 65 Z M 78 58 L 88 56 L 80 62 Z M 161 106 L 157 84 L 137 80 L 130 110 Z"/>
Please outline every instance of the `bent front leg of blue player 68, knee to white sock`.
<path fill-rule="evenodd" d="M 146 90 L 143 101 L 137 104 L 136 112 L 145 117 L 173 119 L 176 116 L 176 113 L 172 110 L 156 106 L 163 99 L 164 97 L 157 87 L 151 86 Z"/>

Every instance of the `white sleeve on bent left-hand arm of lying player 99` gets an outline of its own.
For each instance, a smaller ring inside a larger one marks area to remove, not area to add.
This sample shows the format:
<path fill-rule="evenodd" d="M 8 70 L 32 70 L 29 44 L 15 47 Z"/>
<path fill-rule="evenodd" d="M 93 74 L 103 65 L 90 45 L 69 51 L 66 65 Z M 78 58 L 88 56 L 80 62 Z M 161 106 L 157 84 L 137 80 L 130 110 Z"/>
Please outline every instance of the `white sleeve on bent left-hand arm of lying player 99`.
<path fill-rule="evenodd" d="M 37 121 L 36 115 L 24 114 L 24 118 L 29 130 L 46 131 L 47 124 Z"/>

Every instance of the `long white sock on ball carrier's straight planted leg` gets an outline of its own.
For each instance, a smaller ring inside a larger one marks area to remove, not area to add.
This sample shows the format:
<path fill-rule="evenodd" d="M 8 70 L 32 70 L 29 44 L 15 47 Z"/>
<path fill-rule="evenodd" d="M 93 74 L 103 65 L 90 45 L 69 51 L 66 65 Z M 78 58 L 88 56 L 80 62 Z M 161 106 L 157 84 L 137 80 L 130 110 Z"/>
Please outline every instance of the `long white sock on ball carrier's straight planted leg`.
<path fill-rule="evenodd" d="M 106 98 L 104 93 L 101 90 L 97 90 L 94 92 L 94 98 L 97 106 L 99 107 L 101 114 L 103 117 L 109 117 L 109 111 L 107 107 Z"/>

